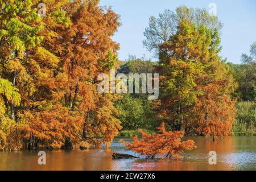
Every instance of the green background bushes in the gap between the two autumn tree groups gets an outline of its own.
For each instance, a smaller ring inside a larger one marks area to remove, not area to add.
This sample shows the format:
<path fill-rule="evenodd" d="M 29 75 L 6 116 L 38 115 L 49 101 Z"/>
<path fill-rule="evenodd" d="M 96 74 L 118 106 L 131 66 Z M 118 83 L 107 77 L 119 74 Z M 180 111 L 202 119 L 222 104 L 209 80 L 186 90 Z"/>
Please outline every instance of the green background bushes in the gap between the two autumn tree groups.
<path fill-rule="evenodd" d="M 119 73 L 152 73 L 155 63 L 150 60 L 137 59 L 129 56 L 129 59 L 118 69 Z M 156 114 L 152 107 L 152 101 L 147 94 L 124 94 L 123 98 L 115 102 L 120 111 L 119 119 L 122 121 L 123 130 L 151 129 L 156 127 Z"/>

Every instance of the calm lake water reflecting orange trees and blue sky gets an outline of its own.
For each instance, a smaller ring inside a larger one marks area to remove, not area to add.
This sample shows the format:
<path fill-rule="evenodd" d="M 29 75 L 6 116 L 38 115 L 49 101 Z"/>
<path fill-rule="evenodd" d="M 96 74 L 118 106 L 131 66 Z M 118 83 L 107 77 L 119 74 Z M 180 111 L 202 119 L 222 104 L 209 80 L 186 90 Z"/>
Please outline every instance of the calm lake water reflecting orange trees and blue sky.
<path fill-rule="evenodd" d="M 209 142 L 203 137 L 189 137 L 197 149 L 185 152 L 182 161 L 145 159 L 112 160 L 113 152 L 133 154 L 115 139 L 110 150 L 46 151 L 46 165 L 39 166 L 38 153 L 0 152 L 0 170 L 254 170 L 256 137 L 230 137 Z M 130 140 L 130 139 L 125 139 Z M 217 165 L 209 165 L 209 151 L 217 152 Z"/>

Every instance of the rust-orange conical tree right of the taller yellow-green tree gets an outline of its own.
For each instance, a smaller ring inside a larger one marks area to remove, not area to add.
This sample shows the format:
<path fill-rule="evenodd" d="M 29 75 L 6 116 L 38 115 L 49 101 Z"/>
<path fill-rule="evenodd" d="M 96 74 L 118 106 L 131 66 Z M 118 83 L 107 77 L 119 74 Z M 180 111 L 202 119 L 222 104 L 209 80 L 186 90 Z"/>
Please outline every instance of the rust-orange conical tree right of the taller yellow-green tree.
<path fill-rule="evenodd" d="M 196 90 L 200 94 L 193 106 L 188 127 L 198 134 L 217 140 L 232 135 L 236 100 L 231 96 L 236 82 L 225 60 L 218 56 L 221 51 L 218 31 L 211 31 L 206 27 L 204 31 L 209 42 L 204 42 L 208 46 L 202 50 L 204 55 L 201 63 L 204 69 L 203 74 L 196 80 Z"/>

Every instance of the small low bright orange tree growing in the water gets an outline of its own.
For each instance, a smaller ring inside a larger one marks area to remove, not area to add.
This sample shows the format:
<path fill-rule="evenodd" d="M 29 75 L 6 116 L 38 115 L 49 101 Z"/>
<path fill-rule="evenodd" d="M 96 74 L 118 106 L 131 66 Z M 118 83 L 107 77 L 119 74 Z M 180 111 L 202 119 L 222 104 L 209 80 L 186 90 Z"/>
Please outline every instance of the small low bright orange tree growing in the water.
<path fill-rule="evenodd" d="M 142 134 L 141 140 L 134 137 L 131 143 L 124 140 L 121 140 L 121 142 L 126 145 L 127 149 L 145 155 L 147 159 L 155 159 L 156 155 L 165 155 L 164 159 L 181 159 L 184 150 L 196 148 L 193 140 L 181 142 L 181 138 L 184 136 L 183 131 L 166 131 L 164 123 L 157 129 L 159 133 L 153 135 L 139 129 L 139 133 Z"/>

